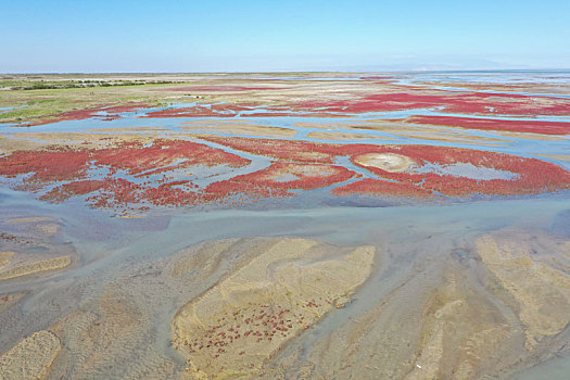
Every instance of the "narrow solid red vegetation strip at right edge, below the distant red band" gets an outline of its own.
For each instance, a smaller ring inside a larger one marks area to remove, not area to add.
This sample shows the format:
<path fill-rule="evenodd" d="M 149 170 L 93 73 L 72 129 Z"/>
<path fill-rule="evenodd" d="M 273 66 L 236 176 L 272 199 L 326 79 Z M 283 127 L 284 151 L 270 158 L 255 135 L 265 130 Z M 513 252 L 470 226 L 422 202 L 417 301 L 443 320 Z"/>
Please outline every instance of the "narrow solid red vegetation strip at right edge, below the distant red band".
<path fill-rule="evenodd" d="M 482 130 L 502 130 L 543 135 L 569 135 L 570 123 L 540 121 L 499 121 L 493 118 L 455 116 L 411 116 L 409 123 L 444 127 L 459 127 Z"/>

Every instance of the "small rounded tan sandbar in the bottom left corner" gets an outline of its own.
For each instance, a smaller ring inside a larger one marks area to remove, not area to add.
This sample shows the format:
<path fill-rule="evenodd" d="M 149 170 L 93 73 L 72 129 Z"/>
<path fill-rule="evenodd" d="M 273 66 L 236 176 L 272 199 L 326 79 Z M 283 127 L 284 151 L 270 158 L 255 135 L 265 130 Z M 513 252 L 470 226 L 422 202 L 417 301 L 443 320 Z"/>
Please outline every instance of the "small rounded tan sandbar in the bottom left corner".
<path fill-rule="evenodd" d="M 46 379 L 61 350 L 60 339 L 54 333 L 35 332 L 0 356 L 0 379 Z"/>

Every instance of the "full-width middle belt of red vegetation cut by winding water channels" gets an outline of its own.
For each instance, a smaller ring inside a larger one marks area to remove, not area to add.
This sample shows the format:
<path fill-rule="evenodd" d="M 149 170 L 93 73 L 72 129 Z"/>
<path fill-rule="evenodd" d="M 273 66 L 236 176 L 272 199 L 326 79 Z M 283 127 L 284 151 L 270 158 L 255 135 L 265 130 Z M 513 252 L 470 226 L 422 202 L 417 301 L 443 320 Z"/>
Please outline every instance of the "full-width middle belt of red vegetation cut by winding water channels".
<path fill-rule="evenodd" d="M 0 157 L 0 176 L 29 174 L 23 180 L 23 189 L 41 190 L 55 185 L 42 199 L 61 202 L 73 195 L 88 195 L 96 207 L 251 202 L 289 197 L 294 191 L 326 188 L 362 177 L 335 165 L 341 156 L 350 157 L 354 165 L 367 170 L 370 178 L 334 189 L 338 195 L 370 193 L 426 199 L 525 195 L 570 189 L 570 172 L 562 167 L 503 153 L 431 145 L 327 144 L 214 136 L 205 139 L 278 162 L 199 188 L 183 176 L 180 178 L 180 173 L 173 178 L 166 174 L 194 165 L 243 167 L 250 160 L 201 143 L 156 140 L 151 145 L 125 143 L 99 150 L 20 151 Z M 392 173 L 381 166 L 359 164 L 359 155 L 371 153 L 403 155 L 414 165 L 406 172 Z M 162 177 L 155 179 L 159 174 Z"/>

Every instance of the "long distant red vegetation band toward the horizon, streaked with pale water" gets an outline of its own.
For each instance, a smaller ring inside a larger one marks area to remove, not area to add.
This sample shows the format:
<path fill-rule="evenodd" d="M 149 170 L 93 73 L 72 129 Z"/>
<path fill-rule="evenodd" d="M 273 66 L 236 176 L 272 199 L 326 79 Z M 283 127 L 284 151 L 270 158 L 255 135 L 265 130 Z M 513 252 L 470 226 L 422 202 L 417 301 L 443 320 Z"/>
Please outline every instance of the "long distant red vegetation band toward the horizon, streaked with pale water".
<path fill-rule="evenodd" d="M 214 88 L 261 88 L 213 86 Z M 190 89 L 190 88 L 189 88 Z M 430 91 L 406 88 L 408 92 L 384 92 L 352 100 L 304 101 L 287 105 L 197 104 L 186 107 L 150 112 L 142 117 L 346 117 L 363 113 L 378 113 L 417 109 L 443 109 L 463 114 L 504 115 L 568 115 L 570 102 L 566 99 L 529 97 L 491 92 Z M 252 112 L 253 113 L 246 113 Z"/>

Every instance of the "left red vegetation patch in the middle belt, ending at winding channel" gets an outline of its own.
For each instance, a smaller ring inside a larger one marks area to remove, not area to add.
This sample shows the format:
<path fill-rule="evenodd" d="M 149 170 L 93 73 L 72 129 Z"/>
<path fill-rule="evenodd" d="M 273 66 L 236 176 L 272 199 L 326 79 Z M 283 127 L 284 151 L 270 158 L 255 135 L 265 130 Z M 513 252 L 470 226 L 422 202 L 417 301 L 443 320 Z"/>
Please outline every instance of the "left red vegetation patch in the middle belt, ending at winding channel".
<path fill-rule="evenodd" d="M 0 157 L 0 176 L 16 177 L 29 174 L 22 189 L 39 190 L 62 181 L 42 199 L 61 202 L 72 195 L 85 195 L 100 191 L 90 198 L 96 206 L 112 204 L 143 203 L 155 205 L 194 204 L 199 199 L 193 191 L 195 185 L 189 180 L 166 182 L 164 176 L 159 186 L 153 182 L 136 183 L 113 177 L 118 170 L 123 175 L 149 178 L 151 175 L 194 165 L 242 167 L 250 160 L 183 140 L 155 140 L 152 145 L 125 143 L 121 147 L 98 150 L 53 149 L 47 151 L 18 151 Z M 109 173 L 102 179 L 87 179 L 101 176 L 98 170 Z M 183 189 L 181 189 L 182 187 Z"/>

